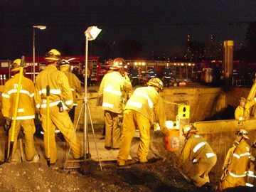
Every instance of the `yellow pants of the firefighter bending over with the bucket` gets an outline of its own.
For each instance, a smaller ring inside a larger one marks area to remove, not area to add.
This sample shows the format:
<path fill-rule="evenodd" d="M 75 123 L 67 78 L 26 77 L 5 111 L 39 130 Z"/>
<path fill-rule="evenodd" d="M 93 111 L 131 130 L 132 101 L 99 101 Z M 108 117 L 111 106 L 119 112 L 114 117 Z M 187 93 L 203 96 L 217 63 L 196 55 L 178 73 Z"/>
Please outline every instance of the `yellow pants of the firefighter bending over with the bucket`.
<path fill-rule="evenodd" d="M 150 127 L 149 119 L 146 119 L 143 114 L 134 110 L 124 111 L 124 122 L 122 124 L 122 136 L 117 155 L 117 164 L 124 165 L 129 156 L 130 145 L 136 129 L 139 129 L 140 141 L 137 155 L 140 162 L 146 162 L 146 156 L 149 153 L 150 142 Z"/>

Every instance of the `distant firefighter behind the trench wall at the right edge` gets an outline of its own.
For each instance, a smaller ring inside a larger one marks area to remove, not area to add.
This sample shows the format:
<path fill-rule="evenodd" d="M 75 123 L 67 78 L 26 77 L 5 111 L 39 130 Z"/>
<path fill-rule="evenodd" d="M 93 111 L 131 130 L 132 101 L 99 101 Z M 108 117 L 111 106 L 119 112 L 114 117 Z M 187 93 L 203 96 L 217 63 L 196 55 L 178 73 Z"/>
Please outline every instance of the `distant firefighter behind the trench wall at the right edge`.
<path fill-rule="evenodd" d="M 250 118 L 250 107 L 255 105 L 256 98 L 250 102 L 246 102 L 245 97 L 239 99 L 239 106 L 235 109 L 235 119 L 245 121 Z"/>

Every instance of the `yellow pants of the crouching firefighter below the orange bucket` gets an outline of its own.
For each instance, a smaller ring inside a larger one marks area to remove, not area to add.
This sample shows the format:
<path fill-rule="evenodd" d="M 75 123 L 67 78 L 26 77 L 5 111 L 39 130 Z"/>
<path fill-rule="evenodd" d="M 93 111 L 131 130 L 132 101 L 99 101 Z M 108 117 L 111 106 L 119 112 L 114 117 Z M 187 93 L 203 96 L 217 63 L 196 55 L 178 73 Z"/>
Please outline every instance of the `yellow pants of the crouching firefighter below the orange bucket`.
<path fill-rule="evenodd" d="M 215 166 L 217 162 L 217 156 L 211 156 L 210 158 L 201 158 L 198 163 L 193 164 L 188 171 L 188 178 L 194 183 L 195 186 L 201 187 L 206 182 L 210 183 L 209 172 Z"/>

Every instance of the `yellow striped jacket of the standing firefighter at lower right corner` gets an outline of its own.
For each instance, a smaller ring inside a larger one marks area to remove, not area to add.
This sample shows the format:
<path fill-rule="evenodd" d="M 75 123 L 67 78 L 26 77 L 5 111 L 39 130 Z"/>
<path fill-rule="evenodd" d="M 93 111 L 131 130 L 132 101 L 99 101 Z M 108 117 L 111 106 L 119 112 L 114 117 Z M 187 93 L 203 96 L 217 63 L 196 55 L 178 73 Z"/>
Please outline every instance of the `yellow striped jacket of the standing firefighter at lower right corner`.
<path fill-rule="evenodd" d="M 234 178 L 247 176 L 250 154 L 251 148 L 247 142 L 240 142 L 240 144 L 235 148 L 230 164 L 228 165 L 230 176 L 233 176 Z"/>

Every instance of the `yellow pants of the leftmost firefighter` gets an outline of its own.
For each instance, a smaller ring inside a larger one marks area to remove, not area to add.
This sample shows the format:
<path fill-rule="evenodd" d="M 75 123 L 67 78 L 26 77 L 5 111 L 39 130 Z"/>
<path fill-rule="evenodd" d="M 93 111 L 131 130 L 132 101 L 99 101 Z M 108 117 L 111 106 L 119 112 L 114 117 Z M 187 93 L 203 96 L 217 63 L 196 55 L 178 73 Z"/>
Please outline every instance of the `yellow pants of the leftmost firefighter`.
<path fill-rule="evenodd" d="M 9 129 L 9 144 L 8 149 L 10 149 L 10 142 L 11 142 L 11 132 L 14 129 L 14 124 L 11 124 L 11 128 Z M 33 122 L 33 119 L 23 119 L 23 120 L 16 120 L 16 126 L 14 131 L 14 146 L 12 155 L 14 155 L 17 146 L 17 138 L 18 133 L 23 128 L 23 133 L 25 137 L 25 153 L 26 153 L 26 160 L 32 161 L 33 157 L 36 155 L 36 149 L 33 140 L 33 134 L 36 132 L 36 127 Z M 9 156 L 9 151 L 8 151 Z"/>

